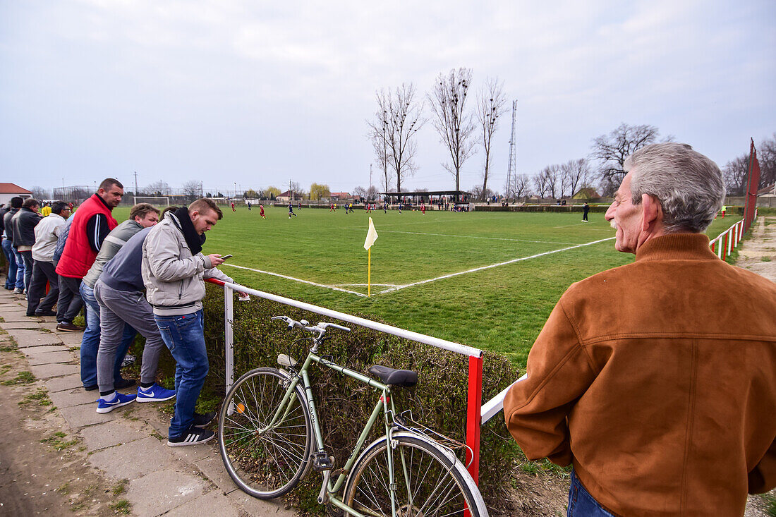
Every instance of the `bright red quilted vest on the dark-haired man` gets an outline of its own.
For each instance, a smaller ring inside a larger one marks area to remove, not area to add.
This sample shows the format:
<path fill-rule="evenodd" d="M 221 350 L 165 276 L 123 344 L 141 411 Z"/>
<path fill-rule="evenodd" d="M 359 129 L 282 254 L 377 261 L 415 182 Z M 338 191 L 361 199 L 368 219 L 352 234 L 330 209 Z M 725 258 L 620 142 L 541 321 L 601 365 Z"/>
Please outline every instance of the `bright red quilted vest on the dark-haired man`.
<path fill-rule="evenodd" d="M 97 253 L 92 250 L 86 237 L 86 223 L 95 213 L 104 213 L 108 219 L 108 228 L 113 230 L 118 223 L 110 213 L 110 209 L 97 194 L 94 194 L 88 200 L 78 206 L 75 211 L 75 217 L 70 227 L 68 240 L 64 243 L 62 258 L 57 264 L 57 274 L 69 276 L 70 278 L 83 278 L 86 276 L 89 268 L 95 262 Z"/>

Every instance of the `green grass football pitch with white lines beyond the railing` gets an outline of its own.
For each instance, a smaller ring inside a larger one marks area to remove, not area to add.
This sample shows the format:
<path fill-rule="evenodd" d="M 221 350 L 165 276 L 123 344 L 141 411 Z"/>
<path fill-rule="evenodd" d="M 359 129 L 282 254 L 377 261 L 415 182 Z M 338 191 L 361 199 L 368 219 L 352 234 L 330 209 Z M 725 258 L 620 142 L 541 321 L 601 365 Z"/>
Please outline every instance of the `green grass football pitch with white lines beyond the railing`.
<path fill-rule="evenodd" d="M 234 255 L 220 269 L 237 283 L 501 352 L 521 368 L 571 283 L 634 258 L 615 251 L 603 213 L 583 223 L 581 213 L 265 211 L 227 207 L 206 234 L 203 253 Z M 379 238 L 366 297 L 369 215 Z M 707 233 L 738 219 L 718 218 Z"/>

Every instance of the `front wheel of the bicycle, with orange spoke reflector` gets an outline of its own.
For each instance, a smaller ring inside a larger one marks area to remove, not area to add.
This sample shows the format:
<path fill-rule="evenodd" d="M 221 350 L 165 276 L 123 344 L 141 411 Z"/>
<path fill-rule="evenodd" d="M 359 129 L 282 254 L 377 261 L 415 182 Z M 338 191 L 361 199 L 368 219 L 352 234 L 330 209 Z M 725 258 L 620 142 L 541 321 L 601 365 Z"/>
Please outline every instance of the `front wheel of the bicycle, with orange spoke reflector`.
<path fill-rule="evenodd" d="M 234 383 L 221 407 L 223 464 L 255 498 L 287 494 L 310 466 L 310 410 L 302 387 L 297 384 L 286 397 L 288 387 L 289 376 L 280 370 L 251 370 Z"/>

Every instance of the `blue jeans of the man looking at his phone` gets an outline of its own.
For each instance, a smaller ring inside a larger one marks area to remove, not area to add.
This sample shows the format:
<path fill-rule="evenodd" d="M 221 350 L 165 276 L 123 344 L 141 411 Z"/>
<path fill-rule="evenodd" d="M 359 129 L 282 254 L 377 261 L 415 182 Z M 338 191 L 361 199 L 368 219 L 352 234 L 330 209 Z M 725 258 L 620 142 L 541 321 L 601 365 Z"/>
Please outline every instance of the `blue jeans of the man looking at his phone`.
<path fill-rule="evenodd" d="M 180 316 L 157 316 L 154 320 L 161 338 L 175 359 L 175 415 L 170 421 L 168 435 L 178 438 L 189 430 L 194 418 L 194 407 L 207 375 L 202 310 Z"/>

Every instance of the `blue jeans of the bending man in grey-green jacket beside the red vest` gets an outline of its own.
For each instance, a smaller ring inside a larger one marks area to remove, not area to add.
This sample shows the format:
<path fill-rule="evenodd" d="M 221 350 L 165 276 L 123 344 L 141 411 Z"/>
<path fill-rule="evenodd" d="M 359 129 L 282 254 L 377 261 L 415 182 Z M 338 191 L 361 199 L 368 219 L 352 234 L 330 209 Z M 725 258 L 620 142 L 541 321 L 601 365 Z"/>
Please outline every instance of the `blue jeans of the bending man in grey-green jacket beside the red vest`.
<path fill-rule="evenodd" d="M 81 298 L 84 300 L 86 313 L 86 328 L 84 337 L 81 338 L 81 383 L 84 387 L 97 385 L 97 352 L 99 350 L 99 304 L 95 298 L 95 292 L 91 287 L 81 282 L 78 288 Z M 137 331 L 130 325 L 124 325 L 124 335 L 121 345 L 116 350 L 116 363 L 113 365 L 113 382 L 122 379 L 121 363 L 123 363 L 126 351 L 135 339 Z"/>

